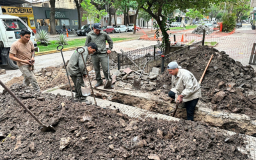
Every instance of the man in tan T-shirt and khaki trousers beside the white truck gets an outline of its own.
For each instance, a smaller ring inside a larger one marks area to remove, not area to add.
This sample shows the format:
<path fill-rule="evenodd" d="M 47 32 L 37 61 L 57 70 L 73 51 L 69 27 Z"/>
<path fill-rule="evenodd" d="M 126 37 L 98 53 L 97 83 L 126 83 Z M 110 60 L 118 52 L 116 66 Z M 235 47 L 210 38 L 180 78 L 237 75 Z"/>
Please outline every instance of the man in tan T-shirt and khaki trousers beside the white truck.
<path fill-rule="evenodd" d="M 26 86 L 31 84 L 36 91 L 40 92 L 34 73 L 35 48 L 30 40 L 30 35 L 31 32 L 26 29 L 20 31 L 20 39 L 12 44 L 9 58 L 17 62 L 24 75 L 23 83 Z"/>

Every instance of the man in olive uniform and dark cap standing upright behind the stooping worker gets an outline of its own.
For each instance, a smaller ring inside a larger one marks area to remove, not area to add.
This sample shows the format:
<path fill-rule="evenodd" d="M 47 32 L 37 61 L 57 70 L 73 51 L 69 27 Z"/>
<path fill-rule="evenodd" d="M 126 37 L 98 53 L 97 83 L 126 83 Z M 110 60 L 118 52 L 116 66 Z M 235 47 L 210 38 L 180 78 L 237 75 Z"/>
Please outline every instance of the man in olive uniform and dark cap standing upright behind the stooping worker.
<path fill-rule="evenodd" d="M 106 49 L 106 40 L 109 44 L 109 49 Z M 100 65 L 102 67 L 105 79 L 108 79 L 108 55 L 111 53 L 111 49 L 113 48 L 113 40 L 111 40 L 110 36 L 102 31 L 102 27 L 99 23 L 95 23 L 93 26 L 93 30 L 87 35 L 85 46 L 93 42 L 98 46 L 98 51 L 92 54 L 92 62 L 93 67 L 96 74 L 97 84 L 95 84 L 94 88 L 102 86 L 102 79 L 100 76 Z M 109 73 L 110 76 L 110 73 Z M 109 77 L 111 78 L 111 77 Z M 111 85 L 113 89 L 114 86 Z"/>

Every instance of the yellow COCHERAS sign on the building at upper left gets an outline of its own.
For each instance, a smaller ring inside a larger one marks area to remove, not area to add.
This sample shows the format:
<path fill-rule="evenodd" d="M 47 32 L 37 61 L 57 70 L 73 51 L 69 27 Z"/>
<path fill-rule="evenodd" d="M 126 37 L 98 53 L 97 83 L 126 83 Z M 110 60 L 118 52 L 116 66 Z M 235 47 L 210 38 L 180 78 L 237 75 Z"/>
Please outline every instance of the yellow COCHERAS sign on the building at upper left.
<path fill-rule="evenodd" d="M 6 14 L 33 14 L 32 8 L 1 6 L 3 13 Z"/>

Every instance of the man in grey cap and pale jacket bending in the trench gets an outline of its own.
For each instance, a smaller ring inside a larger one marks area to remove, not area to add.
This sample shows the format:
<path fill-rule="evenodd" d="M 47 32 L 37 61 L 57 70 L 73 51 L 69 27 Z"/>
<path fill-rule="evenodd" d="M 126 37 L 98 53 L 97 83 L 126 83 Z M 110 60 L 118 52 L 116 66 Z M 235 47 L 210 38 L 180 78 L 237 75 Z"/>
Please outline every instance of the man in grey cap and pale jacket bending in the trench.
<path fill-rule="evenodd" d="M 187 109 L 187 120 L 194 120 L 195 107 L 198 99 L 202 97 L 201 89 L 195 76 L 188 70 L 181 69 L 177 62 L 172 61 L 168 64 L 167 70 L 172 74 L 172 89 L 168 93 L 172 100 L 184 102 Z"/>

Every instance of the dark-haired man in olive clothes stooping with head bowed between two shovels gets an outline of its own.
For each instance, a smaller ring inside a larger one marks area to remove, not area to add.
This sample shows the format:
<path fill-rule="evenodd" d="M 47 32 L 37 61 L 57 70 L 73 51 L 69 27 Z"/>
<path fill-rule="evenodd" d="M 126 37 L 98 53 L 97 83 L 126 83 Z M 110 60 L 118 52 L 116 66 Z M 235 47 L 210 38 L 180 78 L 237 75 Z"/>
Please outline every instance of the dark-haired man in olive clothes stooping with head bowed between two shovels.
<path fill-rule="evenodd" d="M 84 47 L 84 61 L 86 63 L 88 54 L 93 54 L 98 50 L 97 45 L 94 43 L 87 44 L 87 47 Z M 86 102 L 87 105 L 92 104 L 89 100 L 86 100 L 86 96 L 83 96 L 81 86 L 84 87 L 83 77 L 87 77 L 86 70 L 83 63 L 83 58 L 81 54 L 75 51 L 70 60 L 68 61 L 68 75 L 71 77 L 73 83 L 75 84 L 75 92 L 76 92 L 76 99 L 80 102 Z"/>

